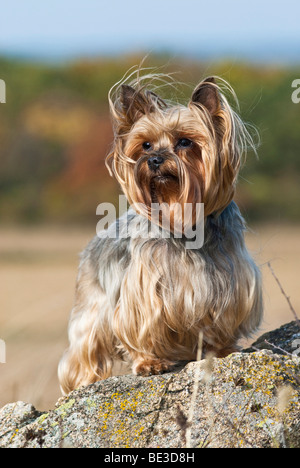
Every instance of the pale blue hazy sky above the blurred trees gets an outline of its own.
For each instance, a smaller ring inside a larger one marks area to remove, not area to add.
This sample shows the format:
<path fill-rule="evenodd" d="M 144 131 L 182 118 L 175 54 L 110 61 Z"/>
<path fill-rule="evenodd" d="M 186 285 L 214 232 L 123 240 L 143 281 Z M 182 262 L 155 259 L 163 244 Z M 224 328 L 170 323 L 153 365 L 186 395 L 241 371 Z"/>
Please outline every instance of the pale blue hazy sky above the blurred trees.
<path fill-rule="evenodd" d="M 299 0 L 7 0 L 0 53 L 44 59 L 165 51 L 300 62 Z"/>

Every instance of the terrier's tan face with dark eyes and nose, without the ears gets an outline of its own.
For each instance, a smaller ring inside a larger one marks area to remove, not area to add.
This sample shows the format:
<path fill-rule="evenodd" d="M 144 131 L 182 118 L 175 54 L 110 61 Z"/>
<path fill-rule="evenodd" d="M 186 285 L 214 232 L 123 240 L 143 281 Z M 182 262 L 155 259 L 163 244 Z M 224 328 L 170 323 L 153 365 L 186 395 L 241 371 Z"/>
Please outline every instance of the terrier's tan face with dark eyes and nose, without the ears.
<path fill-rule="evenodd" d="M 200 203 L 204 189 L 201 146 L 195 119 L 188 109 L 171 108 L 143 115 L 133 125 L 124 152 L 132 184 L 125 190 L 133 202 Z M 202 140 L 202 141 L 201 141 Z"/>

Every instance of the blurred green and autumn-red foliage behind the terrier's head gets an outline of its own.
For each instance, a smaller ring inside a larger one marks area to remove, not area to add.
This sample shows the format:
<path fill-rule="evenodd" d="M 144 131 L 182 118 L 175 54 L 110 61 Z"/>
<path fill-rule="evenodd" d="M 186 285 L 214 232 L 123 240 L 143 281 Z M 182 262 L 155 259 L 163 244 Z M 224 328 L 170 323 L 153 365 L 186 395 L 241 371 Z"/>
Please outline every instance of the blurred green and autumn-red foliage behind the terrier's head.
<path fill-rule="evenodd" d="M 63 65 L 0 59 L 7 96 L 0 105 L 0 219 L 95 223 L 101 201 L 118 188 L 104 167 L 112 138 L 107 93 L 140 57 L 81 60 Z M 146 66 L 179 72 L 180 100 L 215 74 L 229 81 L 242 118 L 260 133 L 237 199 L 249 220 L 300 219 L 300 104 L 291 100 L 299 68 L 204 63 L 151 57 Z"/>

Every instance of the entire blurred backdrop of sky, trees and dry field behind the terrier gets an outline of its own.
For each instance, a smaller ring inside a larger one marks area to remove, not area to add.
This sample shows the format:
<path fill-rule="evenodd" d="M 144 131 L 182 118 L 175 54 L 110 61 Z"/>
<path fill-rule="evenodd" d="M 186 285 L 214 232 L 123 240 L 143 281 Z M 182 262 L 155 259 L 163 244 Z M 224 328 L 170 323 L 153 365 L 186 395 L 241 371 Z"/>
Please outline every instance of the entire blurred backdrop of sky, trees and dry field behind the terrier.
<path fill-rule="evenodd" d="M 104 165 L 107 93 L 145 55 L 145 66 L 186 83 L 182 101 L 205 76 L 229 81 L 242 118 L 259 129 L 259 158 L 249 154 L 236 200 L 263 272 L 260 333 L 293 320 L 268 261 L 300 314 L 299 13 L 296 0 L 1 5 L 0 407 L 49 409 L 60 396 L 78 253 L 95 234 L 97 205 L 119 194 Z"/>

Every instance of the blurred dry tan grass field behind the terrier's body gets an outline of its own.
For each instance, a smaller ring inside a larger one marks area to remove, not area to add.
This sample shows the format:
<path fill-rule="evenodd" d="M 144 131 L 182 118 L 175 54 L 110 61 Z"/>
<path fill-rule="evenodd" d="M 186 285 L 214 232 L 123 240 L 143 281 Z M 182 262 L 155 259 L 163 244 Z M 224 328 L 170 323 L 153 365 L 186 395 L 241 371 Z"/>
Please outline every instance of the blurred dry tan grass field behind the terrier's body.
<path fill-rule="evenodd" d="M 56 369 L 67 345 L 78 253 L 93 235 L 78 229 L 0 230 L 0 407 L 16 400 L 40 410 L 60 396 Z M 300 314 L 300 226 L 257 226 L 247 243 L 262 266 L 265 318 L 261 332 L 293 320 L 267 262 Z"/>

